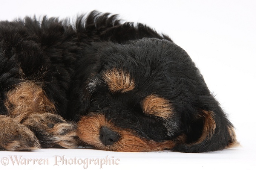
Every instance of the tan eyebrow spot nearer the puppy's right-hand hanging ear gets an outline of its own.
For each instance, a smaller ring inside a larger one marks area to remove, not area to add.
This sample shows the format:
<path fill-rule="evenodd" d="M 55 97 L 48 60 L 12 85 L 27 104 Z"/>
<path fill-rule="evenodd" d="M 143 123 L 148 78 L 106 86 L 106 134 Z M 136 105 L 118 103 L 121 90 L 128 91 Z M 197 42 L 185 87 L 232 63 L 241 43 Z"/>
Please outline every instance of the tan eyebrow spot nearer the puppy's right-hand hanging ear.
<path fill-rule="evenodd" d="M 169 118 L 172 115 L 172 106 L 170 102 L 153 94 L 147 96 L 141 102 L 141 106 L 144 113 L 149 115 L 155 115 L 162 118 Z"/>

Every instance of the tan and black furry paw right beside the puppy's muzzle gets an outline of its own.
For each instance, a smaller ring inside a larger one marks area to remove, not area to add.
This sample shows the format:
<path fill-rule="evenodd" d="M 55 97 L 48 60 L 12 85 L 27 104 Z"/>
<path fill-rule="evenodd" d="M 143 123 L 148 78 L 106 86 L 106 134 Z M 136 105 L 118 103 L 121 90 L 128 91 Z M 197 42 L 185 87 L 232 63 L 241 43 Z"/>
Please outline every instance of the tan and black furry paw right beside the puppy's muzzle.
<path fill-rule="evenodd" d="M 75 148 L 78 146 L 76 124 L 56 114 L 31 114 L 23 122 L 37 136 L 41 147 Z"/>

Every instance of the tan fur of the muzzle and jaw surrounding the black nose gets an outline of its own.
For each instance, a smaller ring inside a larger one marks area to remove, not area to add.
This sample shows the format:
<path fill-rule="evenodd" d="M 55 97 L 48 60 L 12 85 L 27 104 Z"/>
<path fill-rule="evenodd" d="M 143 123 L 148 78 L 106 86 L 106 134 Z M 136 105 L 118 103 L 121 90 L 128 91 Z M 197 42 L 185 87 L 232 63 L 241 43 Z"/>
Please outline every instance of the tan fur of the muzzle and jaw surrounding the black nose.
<path fill-rule="evenodd" d="M 120 135 L 119 140 L 112 145 L 105 146 L 100 141 L 100 129 L 103 126 L 117 132 Z M 118 152 L 143 152 L 172 149 L 176 144 L 184 143 L 185 141 L 184 135 L 181 135 L 172 141 L 156 142 L 153 140 L 146 140 L 135 135 L 135 132 L 132 130 L 120 129 L 114 126 L 110 121 L 106 121 L 102 114 L 82 117 L 78 122 L 77 134 L 86 144 L 90 144 L 97 149 Z"/>

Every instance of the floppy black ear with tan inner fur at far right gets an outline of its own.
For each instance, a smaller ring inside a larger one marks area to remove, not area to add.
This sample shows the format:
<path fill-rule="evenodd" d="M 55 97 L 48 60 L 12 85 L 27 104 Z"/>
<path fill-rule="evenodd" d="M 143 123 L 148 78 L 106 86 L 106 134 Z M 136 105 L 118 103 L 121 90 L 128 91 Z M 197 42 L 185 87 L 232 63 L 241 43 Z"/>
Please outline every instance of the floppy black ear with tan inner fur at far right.
<path fill-rule="evenodd" d="M 203 127 L 198 140 L 179 144 L 173 150 L 188 153 L 208 152 L 237 144 L 234 127 L 221 108 L 218 107 L 215 111 L 202 110 L 200 117 L 203 120 Z"/>

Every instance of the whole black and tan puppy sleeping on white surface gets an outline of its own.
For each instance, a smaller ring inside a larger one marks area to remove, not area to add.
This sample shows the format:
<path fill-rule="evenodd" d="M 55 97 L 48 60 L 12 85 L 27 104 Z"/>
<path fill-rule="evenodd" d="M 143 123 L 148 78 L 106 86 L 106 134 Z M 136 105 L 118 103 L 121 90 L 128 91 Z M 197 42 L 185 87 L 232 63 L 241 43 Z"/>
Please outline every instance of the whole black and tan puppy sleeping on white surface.
<path fill-rule="evenodd" d="M 124 152 L 236 143 L 189 55 L 143 24 L 95 11 L 75 26 L 5 21 L 0 51 L 1 149 L 76 147 L 76 136 Z"/>

